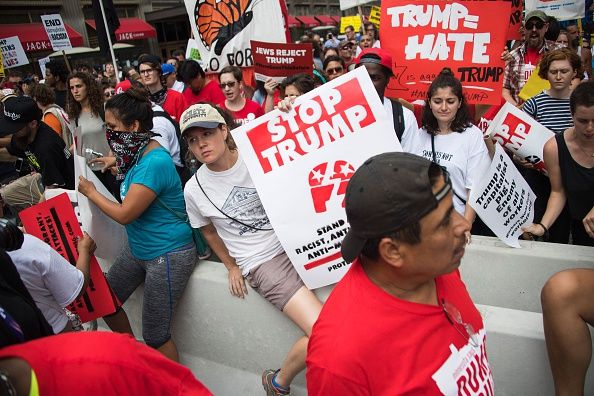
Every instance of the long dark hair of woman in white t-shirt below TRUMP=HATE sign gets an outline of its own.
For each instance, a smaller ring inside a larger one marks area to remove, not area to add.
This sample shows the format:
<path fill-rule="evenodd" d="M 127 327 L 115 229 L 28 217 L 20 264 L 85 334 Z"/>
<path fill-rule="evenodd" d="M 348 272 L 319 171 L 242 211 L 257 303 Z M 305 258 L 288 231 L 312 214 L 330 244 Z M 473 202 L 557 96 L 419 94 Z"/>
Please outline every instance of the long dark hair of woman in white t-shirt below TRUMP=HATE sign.
<path fill-rule="evenodd" d="M 427 99 L 425 100 L 423 117 L 421 119 L 423 128 L 425 128 L 431 135 L 437 135 L 439 133 L 437 118 L 435 118 L 435 115 L 433 115 L 430 102 L 433 95 L 435 95 L 437 90 L 440 88 L 451 88 L 452 93 L 458 97 L 458 100 L 460 101 L 460 108 L 452 120 L 450 129 L 453 132 L 464 132 L 466 128 L 472 125 L 472 119 L 470 117 L 470 112 L 468 111 L 466 98 L 464 98 L 464 94 L 462 92 L 462 83 L 460 83 L 460 80 L 454 76 L 454 73 L 448 67 L 443 68 L 443 70 L 439 73 L 435 80 L 433 80 L 429 86 L 429 89 L 427 90 Z"/>

